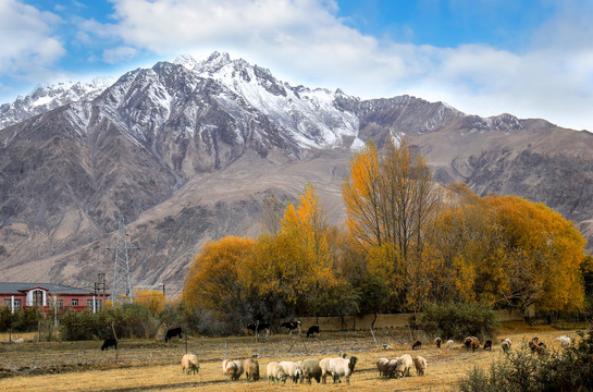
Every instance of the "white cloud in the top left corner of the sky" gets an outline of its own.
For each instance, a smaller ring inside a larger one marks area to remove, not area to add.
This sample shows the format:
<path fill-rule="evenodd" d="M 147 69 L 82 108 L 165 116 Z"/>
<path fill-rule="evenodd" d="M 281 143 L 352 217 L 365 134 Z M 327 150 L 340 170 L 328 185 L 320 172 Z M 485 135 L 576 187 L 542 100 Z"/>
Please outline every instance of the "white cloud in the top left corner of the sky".
<path fill-rule="evenodd" d="M 65 54 L 60 38 L 53 35 L 61 22 L 32 5 L 0 1 L 0 74 L 24 79 L 47 76 L 47 68 Z"/>

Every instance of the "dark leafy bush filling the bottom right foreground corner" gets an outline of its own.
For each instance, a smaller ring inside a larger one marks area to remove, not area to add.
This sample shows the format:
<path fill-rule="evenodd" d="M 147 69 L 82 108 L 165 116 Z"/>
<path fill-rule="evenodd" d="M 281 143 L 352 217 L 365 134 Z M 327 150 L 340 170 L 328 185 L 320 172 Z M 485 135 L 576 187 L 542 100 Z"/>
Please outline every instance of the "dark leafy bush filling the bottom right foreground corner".
<path fill-rule="evenodd" d="M 583 334 L 581 333 L 581 336 Z M 593 390 L 593 338 L 591 331 L 578 346 L 547 355 L 532 355 L 523 350 L 510 352 L 494 363 L 489 371 L 474 368 L 461 378 L 462 392 L 580 392 Z"/>

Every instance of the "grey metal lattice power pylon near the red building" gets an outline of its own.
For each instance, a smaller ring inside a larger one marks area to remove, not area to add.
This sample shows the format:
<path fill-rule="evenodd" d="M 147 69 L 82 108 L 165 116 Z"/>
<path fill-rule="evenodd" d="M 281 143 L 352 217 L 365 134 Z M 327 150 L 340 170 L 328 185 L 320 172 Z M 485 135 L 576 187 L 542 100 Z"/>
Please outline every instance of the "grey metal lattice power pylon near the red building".
<path fill-rule="evenodd" d="M 127 250 L 137 250 L 139 248 L 127 242 L 123 215 L 120 215 L 118 223 L 118 238 L 108 249 L 115 250 L 113 284 L 111 285 L 111 307 L 114 306 L 115 302 L 119 304 L 132 304 L 132 283 L 129 282 L 129 258 Z"/>

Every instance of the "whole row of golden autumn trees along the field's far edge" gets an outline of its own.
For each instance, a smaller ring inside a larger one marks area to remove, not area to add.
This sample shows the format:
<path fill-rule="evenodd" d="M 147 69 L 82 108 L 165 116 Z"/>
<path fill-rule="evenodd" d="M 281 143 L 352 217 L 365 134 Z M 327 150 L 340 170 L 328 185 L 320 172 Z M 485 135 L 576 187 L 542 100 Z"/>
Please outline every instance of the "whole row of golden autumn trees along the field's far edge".
<path fill-rule="evenodd" d="M 231 328 L 255 319 L 419 311 L 452 301 L 575 313 L 591 265 L 575 225 L 543 204 L 432 182 L 406 143 L 355 154 L 344 228 L 313 185 L 265 204 L 264 234 L 206 244 L 184 302 Z"/>

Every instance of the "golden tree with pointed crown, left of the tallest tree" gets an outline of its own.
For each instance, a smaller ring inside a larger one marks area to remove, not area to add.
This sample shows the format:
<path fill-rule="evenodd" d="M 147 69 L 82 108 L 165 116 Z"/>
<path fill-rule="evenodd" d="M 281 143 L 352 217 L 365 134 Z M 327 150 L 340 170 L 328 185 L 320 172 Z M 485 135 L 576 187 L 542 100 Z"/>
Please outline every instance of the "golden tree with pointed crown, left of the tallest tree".
<path fill-rule="evenodd" d="M 264 234 L 242 264 L 240 278 L 257 290 L 269 308 L 305 314 L 312 299 L 334 283 L 323 207 L 307 185 L 295 206 L 288 204 L 276 235 Z"/>

